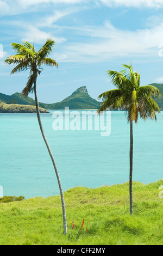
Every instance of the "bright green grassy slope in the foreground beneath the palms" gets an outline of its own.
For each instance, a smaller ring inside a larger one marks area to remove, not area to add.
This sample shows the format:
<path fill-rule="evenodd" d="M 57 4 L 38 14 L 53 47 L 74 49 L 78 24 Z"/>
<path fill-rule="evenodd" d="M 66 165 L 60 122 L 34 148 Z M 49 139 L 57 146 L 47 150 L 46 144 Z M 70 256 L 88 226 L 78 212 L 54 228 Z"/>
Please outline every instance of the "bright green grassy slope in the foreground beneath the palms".
<path fill-rule="evenodd" d="M 67 236 L 62 229 L 60 196 L 1 203 L 0 245 L 163 245 L 161 185 L 163 180 L 133 183 L 133 216 L 129 215 L 128 182 L 71 188 L 64 193 Z"/>

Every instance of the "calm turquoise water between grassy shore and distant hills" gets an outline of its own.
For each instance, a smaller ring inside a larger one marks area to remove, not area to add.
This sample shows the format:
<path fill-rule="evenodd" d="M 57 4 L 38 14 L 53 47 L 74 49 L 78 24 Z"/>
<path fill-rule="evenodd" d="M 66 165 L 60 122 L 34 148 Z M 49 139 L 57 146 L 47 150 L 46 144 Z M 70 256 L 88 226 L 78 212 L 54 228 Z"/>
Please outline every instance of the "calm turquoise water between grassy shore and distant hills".
<path fill-rule="evenodd" d="M 111 112 L 108 137 L 95 129 L 54 131 L 52 114 L 41 114 L 41 119 L 64 191 L 129 180 L 129 124 L 123 111 Z M 144 184 L 163 179 L 163 112 L 157 119 L 139 119 L 134 125 L 133 180 Z M 0 185 L 4 196 L 59 194 L 36 114 L 0 114 L 0 123 Z"/>

